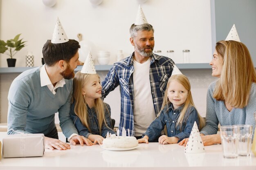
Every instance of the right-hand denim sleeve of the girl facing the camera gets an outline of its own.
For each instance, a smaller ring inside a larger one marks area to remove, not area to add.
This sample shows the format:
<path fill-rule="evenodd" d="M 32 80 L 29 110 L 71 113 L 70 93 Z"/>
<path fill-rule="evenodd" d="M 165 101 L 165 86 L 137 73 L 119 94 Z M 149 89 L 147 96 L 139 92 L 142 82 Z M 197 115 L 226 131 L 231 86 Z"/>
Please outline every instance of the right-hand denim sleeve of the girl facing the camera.
<path fill-rule="evenodd" d="M 183 122 L 183 124 L 186 124 L 184 130 L 174 136 L 174 137 L 180 138 L 178 142 L 182 141 L 184 138 L 189 137 L 195 121 L 199 127 L 198 112 L 196 111 L 196 109 L 194 107 L 192 107 L 192 108 L 189 108 L 187 110 L 187 112 L 189 112 L 189 113 L 185 114 L 185 116 L 188 115 L 186 122 Z"/>

